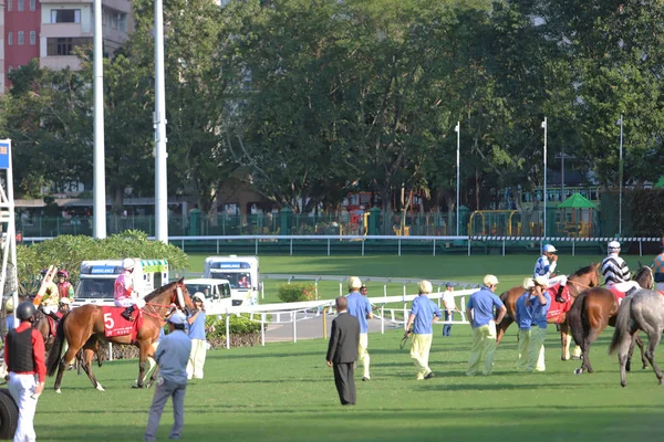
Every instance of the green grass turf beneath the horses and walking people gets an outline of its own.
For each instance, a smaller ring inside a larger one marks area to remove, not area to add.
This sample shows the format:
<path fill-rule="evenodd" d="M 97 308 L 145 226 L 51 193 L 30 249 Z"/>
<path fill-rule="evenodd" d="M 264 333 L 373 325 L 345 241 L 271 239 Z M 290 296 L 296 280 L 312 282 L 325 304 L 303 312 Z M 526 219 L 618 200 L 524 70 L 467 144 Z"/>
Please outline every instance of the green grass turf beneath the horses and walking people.
<path fill-rule="evenodd" d="M 599 256 L 598 256 L 599 259 Z M 261 257 L 261 272 L 362 274 L 479 281 L 496 273 L 513 285 L 529 273 L 532 256 L 372 256 L 365 259 Z M 589 257 L 562 257 L 561 271 L 587 265 Z M 595 260 L 596 261 L 596 260 Z M 629 264 L 636 266 L 636 260 Z M 203 257 L 193 256 L 194 271 Z M 338 288 L 336 288 L 338 290 Z M 334 293 L 330 294 L 332 297 Z M 439 336 L 429 365 L 436 377 L 415 380 L 402 332 L 370 335 L 371 382 L 357 382 L 357 406 L 339 404 L 332 369 L 324 364 L 326 341 L 268 344 L 208 352 L 205 380 L 187 389 L 184 440 L 188 441 L 624 441 L 660 440 L 664 431 L 662 387 L 652 369 L 619 383 L 615 357 L 606 355 L 608 329 L 593 347 L 595 373 L 573 376 L 579 361 L 561 361 L 559 338 L 549 327 L 547 372 L 513 369 L 516 329 L 497 350 L 494 375 L 466 377 L 470 328 L 455 325 Z M 640 367 L 640 364 L 635 364 Z M 87 378 L 66 372 L 62 394 L 42 394 L 35 429 L 40 441 L 142 440 L 152 390 L 133 390 L 136 360 L 93 368 L 105 392 Z M 361 375 L 360 375 L 361 376 Z M 167 406 L 159 440 L 173 423 Z"/>

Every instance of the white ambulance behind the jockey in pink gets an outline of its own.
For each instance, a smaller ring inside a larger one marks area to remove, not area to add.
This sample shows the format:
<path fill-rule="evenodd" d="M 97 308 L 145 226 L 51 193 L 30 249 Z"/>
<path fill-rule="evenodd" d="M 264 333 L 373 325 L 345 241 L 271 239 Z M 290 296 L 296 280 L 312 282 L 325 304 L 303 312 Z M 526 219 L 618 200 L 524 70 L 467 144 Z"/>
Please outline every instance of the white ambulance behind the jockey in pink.
<path fill-rule="evenodd" d="M 136 265 L 132 276 L 134 290 L 141 297 L 168 284 L 166 260 L 134 259 Z M 83 304 L 114 305 L 113 292 L 117 276 L 123 272 L 122 260 L 83 261 L 81 276 L 74 292 L 73 306 Z"/>

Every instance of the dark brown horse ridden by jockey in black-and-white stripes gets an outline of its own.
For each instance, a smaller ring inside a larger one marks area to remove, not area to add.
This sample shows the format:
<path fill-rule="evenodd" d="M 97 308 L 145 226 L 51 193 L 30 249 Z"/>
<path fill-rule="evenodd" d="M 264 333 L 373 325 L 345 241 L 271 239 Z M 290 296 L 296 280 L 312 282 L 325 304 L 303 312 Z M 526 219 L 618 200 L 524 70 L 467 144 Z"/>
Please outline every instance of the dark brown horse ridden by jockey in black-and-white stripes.
<path fill-rule="evenodd" d="M 654 285 L 653 270 L 647 265 L 641 266 L 639 272 L 636 272 L 634 281 L 643 288 L 652 290 Z M 574 337 L 577 345 L 581 347 L 583 355 L 583 362 L 580 368 L 574 370 L 575 375 L 581 375 L 583 371 L 590 373 L 593 371 L 592 365 L 590 364 L 590 345 L 596 340 L 598 336 L 600 336 L 608 325 L 615 327 L 619 306 L 613 292 L 606 288 L 591 288 L 577 297 L 577 302 L 568 314 L 572 336 Z M 627 371 L 630 371 L 632 365 L 634 344 L 636 344 L 641 350 L 643 368 L 647 368 L 643 341 L 639 336 L 634 335 L 626 361 Z"/>

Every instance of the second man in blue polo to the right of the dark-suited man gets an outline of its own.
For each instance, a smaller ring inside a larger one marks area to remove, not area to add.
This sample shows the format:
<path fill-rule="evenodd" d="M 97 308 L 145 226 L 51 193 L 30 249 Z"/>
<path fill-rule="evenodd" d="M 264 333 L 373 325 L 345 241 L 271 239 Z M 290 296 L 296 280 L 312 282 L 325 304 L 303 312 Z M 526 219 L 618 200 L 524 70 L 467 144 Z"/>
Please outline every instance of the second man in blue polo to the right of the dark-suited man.
<path fill-rule="evenodd" d="M 432 283 L 428 281 L 419 282 L 419 296 L 413 299 L 411 316 L 406 324 L 406 330 L 413 328 L 413 343 L 411 344 L 411 358 L 417 368 L 417 380 L 430 379 L 434 372 L 428 366 L 428 355 L 432 348 L 432 338 L 434 333 L 432 325 L 440 319 L 440 308 L 427 297 L 433 292 Z"/>

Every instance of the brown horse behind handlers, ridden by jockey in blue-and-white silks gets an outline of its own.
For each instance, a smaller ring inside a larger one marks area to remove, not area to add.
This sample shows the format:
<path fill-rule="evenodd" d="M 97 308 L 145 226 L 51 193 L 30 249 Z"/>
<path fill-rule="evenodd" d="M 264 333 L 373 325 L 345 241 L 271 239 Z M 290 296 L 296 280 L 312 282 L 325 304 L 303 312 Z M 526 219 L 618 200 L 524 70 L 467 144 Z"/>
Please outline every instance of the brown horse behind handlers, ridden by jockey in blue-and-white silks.
<path fill-rule="evenodd" d="M 569 303 L 573 303 L 574 298 L 579 293 L 589 288 L 596 287 L 600 285 L 600 264 L 590 263 L 590 265 L 578 270 L 573 275 L 568 278 L 567 286 L 570 292 Z M 500 299 L 505 304 L 507 308 L 507 314 L 505 318 L 498 324 L 498 330 L 496 336 L 496 344 L 500 344 L 500 339 L 505 335 L 507 328 L 515 322 L 515 309 L 517 299 L 519 296 L 523 294 L 523 287 L 518 286 L 504 292 L 500 295 Z M 570 340 L 571 336 L 569 335 L 569 325 L 567 322 L 566 313 L 560 314 L 548 320 L 550 324 L 559 324 L 560 325 L 560 341 L 562 344 L 562 360 L 568 360 L 570 358 Z"/>

